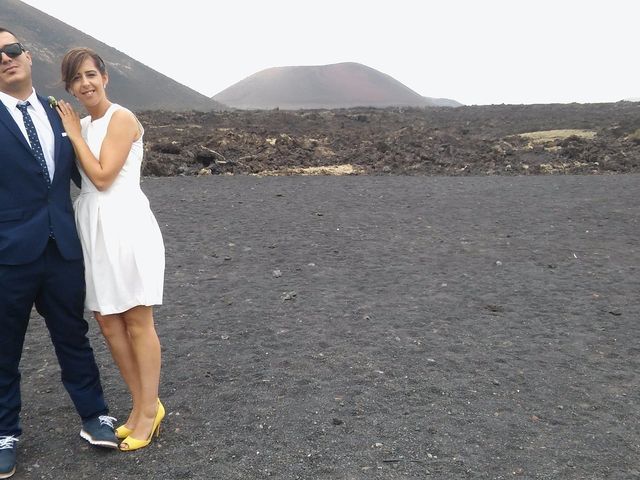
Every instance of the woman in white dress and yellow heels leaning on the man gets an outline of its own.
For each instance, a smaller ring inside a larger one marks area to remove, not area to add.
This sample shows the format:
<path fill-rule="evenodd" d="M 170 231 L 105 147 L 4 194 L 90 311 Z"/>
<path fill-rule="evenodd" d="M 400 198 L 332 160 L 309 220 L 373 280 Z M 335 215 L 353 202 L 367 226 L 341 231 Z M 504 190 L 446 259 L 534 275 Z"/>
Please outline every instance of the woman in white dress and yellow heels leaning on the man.
<path fill-rule="evenodd" d="M 80 120 L 69 103 L 57 104 L 82 175 L 74 206 L 86 306 L 132 396 L 129 418 L 116 429 L 120 449 L 137 450 L 159 433 L 165 414 L 158 398 L 160 341 L 152 308 L 162 303 L 164 244 L 140 189 L 144 130 L 132 112 L 107 98 L 109 76 L 94 51 L 67 52 L 62 79 L 89 114 Z"/>

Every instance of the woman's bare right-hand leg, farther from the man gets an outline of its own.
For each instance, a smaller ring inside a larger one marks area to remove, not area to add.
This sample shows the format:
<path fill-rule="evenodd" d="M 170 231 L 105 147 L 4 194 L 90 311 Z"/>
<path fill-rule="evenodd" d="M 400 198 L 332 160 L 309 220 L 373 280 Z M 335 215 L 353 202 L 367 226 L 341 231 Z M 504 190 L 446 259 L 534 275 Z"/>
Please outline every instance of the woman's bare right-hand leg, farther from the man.
<path fill-rule="evenodd" d="M 153 309 L 137 306 L 120 314 L 128 332 L 137 372 L 134 375 L 139 388 L 134 398 L 137 409 L 136 423 L 131 437 L 146 440 L 151 434 L 158 409 L 160 383 L 160 340 L 153 323 Z"/>

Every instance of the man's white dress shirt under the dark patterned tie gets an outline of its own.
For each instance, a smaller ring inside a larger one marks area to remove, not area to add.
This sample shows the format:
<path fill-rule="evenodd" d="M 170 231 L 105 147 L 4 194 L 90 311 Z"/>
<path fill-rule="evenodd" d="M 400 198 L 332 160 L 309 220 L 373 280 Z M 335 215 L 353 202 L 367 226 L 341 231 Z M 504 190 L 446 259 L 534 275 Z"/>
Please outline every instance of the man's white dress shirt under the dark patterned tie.
<path fill-rule="evenodd" d="M 24 138 L 29 143 L 29 136 L 27 135 L 27 127 L 24 126 L 24 117 L 22 116 L 22 112 L 18 110 L 18 103 L 22 103 L 22 100 L 19 100 L 11 95 L 7 95 L 4 92 L 0 92 L 0 101 L 5 104 L 7 110 L 18 124 L 18 128 L 24 135 Z M 53 128 L 51 128 L 51 124 L 49 123 L 49 117 L 47 117 L 47 112 L 44 109 L 40 100 L 36 95 L 36 91 L 33 90 L 27 101 L 31 104 L 27 108 L 29 115 L 31 115 L 31 120 L 33 120 L 33 124 L 36 127 L 36 132 L 38 133 L 38 140 L 40 140 L 40 146 L 42 146 L 42 153 L 44 154 L 44 159 L 47 162 L 47 168 L 49 169 L 49 178 L 53 181 L 53 175 L 55 173 L 56 165 L 53 161 L 55 155 L 55 137 L 53 134 Z M 56 112 L 56 115 L 58 113 Z"/>

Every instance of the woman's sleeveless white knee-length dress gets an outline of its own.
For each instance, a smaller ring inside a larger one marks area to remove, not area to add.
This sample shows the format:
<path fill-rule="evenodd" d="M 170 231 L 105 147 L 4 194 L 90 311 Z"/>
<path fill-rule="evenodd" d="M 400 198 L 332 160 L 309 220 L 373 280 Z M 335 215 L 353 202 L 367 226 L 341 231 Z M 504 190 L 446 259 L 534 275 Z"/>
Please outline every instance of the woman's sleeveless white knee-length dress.
<path fill-rule="evenodd" d="M 96 158 L 100 158 L 111 116 L 120 108 L 112 104 L 103 117 L 81 120 L 82 136 Z M 142 155 L 141 135 L 117 178 L 103 192 L 78 164 L 82 187 L 74 207 L 84 255 L 85 305 L 103 315 L 162 303 L 164 243 L 149 200 L 140 189 Z"/>

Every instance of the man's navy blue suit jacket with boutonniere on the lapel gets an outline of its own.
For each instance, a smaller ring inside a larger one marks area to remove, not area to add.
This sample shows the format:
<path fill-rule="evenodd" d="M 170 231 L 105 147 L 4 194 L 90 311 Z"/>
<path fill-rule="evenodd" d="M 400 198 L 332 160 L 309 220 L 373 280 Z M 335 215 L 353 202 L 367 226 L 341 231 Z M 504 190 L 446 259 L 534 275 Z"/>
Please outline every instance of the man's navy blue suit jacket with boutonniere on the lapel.
<path fill-rule="evenodd" d="M 82 258 L 71 204 L 70 179 L 77 179 L 71 141 L 44 97 L 55 135 L 55 174 L 51 188 L 29 142 L 0 102 L 0 264 L 22 265 L 38 258 L 49 241 L 49 227 L 67 260 Z M 76 180 L 77 183 L 77 180 Z"/>

